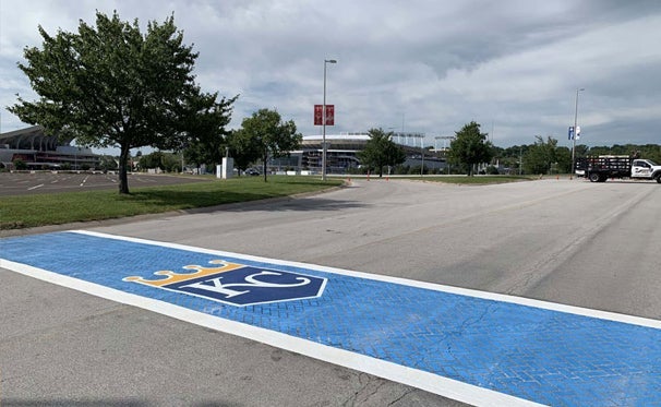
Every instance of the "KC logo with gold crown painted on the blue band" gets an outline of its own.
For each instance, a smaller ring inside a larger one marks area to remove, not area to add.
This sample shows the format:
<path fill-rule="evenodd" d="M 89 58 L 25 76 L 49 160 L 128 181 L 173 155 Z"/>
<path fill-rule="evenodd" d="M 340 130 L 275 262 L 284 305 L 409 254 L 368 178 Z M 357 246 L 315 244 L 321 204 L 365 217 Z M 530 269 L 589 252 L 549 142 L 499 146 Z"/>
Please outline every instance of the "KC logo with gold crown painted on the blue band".
<path fill-rule="evenodd" d="M 131 276 L 124 282 L 183 292 L 232 306 L 321 297 L 326 278 L 212 260 L 209 266 L 187 265 L 189 273 L 160 271 L 158 279 Z"/>

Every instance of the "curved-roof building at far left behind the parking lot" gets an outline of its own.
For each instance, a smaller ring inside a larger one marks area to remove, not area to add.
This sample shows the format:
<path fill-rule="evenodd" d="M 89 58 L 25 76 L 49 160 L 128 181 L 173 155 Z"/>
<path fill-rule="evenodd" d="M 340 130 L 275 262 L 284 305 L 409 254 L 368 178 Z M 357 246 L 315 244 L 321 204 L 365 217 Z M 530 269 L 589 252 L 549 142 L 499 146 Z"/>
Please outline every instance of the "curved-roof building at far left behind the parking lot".
<path fill-rule="evenodd" d="M 29 169 L 71 168 L 95 169 L 99 167 L 100 155 L 89 148 L 70 145 L 72 140 L 58 140 L 46 135 L 40 125 L 0 134 L 0 163 L 4 168 L 13 168 L 14 160 L 22 160 Z"/>

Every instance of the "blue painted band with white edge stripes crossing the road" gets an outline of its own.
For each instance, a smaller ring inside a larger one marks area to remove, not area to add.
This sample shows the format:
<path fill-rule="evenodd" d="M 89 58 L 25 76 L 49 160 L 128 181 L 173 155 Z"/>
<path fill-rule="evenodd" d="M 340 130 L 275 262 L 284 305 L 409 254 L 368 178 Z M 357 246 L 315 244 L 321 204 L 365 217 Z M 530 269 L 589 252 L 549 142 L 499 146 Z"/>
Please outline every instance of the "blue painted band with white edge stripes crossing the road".
<path fill-rule="evenodd" d="M 661 321 L 94 232 L 0 244 L 2 268 L 473 405 L 661 405 Z M 187 275 L 228 264 L 247 272 Z M 227 301 L 307 276 L 326 279 L 320 296 Z M 175 289 L 189 279 L 219 298 Z"/>

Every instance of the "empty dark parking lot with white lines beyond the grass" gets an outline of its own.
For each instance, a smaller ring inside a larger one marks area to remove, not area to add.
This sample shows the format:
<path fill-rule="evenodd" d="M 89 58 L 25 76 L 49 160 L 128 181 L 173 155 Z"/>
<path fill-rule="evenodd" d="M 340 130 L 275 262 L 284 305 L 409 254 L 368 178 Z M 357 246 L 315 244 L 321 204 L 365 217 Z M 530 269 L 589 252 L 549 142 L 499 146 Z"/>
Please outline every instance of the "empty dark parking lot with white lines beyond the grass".
<path fill-rule="evenodd" d="M 208 177 L 130 173 L 129 188 L 171 185 L 209 181 Z M 0 172 L 0 194 L 26 195 L 55 192 L 117 189 L 117 173 L 92 172 Z"/>

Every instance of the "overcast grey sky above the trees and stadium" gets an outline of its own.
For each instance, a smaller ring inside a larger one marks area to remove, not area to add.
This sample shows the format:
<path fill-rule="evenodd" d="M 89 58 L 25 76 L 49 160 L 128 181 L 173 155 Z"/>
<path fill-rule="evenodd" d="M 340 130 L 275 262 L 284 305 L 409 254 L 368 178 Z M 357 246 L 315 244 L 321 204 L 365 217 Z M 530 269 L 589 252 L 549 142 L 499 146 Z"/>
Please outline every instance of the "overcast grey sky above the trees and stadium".
<path fill-rule="evenodd" d="M 165 21 L 200 52 L 205 92 L 239 94 L 231 128 L 277 109 L 303 135 L 320 134 L 313 106 L 336 125 L 435 137 L 471 120 L 495 145 L 536 135 L 569 145 L 578 88 L 580 143 L 661 144 L 661 2 L 658 0 L 0 0 L 0 127 L 26 127 L 5 107 L 37 96 L 16 68 L 26 46 L 73 32 L 96 10 Z M 442 146 L 442 141 L 438 141 Z"/>

